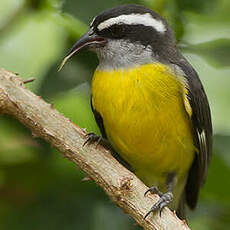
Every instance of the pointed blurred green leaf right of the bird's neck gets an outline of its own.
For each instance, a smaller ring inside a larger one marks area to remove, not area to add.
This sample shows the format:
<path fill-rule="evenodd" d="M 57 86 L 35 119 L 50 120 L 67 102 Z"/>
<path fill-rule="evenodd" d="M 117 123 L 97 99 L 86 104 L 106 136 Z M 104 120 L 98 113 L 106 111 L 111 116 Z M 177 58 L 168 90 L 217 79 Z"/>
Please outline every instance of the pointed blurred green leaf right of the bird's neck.
<path fill-rule="evenodd" d="M 186 45 L 184 52 L 200 55 L 214 67 L 223 68 L 230 66 L 230 39 L 217 39 L 195 45 Z"/>

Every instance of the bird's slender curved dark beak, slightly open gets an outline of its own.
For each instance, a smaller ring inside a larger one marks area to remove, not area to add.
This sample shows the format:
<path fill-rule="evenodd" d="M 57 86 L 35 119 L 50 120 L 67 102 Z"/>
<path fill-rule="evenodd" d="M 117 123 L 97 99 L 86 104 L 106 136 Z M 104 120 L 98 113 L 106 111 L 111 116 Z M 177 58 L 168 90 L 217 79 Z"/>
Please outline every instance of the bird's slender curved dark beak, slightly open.
<path fill-rule="evenodd" d="M 58 71 L 60 71 L 65 65 L 65 63 L 81 49 L 88 47 L 90 45 L 104 46 L 106 43 L 107 40 L 105 38 L 98 36 L 92 31 L 92 29 L 90 29 L 73 45 L 67 56 L 62 61 Z"/>

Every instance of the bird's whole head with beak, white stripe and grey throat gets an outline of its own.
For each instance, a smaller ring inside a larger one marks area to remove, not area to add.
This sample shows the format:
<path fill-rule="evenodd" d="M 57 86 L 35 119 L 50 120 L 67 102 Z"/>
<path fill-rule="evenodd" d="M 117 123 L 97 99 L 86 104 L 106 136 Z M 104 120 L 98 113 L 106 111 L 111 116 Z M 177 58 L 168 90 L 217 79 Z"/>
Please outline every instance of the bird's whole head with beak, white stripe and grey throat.
<path fill-rule="evenodd" d="M 115 62 L 116 66 L 138 63 L 138 60 L 148 62 L 150 52 L 167 62 L 176 53 L 173 31 L 167 21 L 141 5 L 121 5 L 101 12 L 91 22 L 89 31 L 72 47 L 62 66 L 84 47 L 95 50 L 107 65 Z"/>

